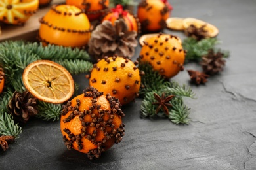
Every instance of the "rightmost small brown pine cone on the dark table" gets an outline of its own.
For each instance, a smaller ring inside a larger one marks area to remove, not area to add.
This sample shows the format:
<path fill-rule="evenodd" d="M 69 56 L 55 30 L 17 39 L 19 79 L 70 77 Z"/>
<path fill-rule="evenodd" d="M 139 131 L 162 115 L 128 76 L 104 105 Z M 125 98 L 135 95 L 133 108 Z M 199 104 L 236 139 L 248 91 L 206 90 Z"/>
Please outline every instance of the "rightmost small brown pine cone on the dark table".
<path fill-rule="evenodd" d="M 202 57 L 200 65 L 202 65 L 203 72 L 207 75 L 215 75 L 223 71 L 223 67 L 226 61 L 223 59 L 224 54 L 221 52 L 214 53 L 213 50 L 209 50 L 206 56 Z"/>

